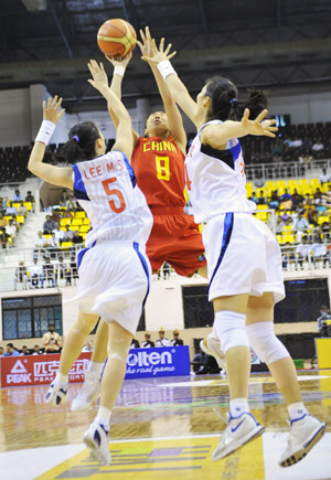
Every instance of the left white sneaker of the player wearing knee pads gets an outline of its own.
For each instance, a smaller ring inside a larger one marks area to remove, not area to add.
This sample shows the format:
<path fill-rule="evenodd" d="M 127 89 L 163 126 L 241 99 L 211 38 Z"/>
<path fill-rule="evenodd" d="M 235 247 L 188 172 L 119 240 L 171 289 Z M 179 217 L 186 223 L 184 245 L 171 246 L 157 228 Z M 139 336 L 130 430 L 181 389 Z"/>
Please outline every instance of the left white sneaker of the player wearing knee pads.
<path fill-rule="evenodd" d="M 244 413 L 235 418 L 231 414 L 227 416 L 227 427 L 222 434 L 218 447 L 213 451 L 212 460 L 226 457 L 243 445 L 259 437 L 265 430 L 265 427 L 249 413 Z"/>

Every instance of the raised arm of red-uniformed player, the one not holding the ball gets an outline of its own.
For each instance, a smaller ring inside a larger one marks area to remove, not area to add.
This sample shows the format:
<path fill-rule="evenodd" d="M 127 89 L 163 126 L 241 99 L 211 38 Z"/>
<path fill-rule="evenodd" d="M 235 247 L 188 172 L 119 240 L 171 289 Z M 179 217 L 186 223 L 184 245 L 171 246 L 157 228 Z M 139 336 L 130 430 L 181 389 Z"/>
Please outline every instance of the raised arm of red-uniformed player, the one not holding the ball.
<path fill-rule="evenodd" d="M 154 42 L 152 41 L 149 32 L 149 28 L 146 28 L 146 31 L 143 32 L 140 30 L 140 36 L 142 42 L 137 41 L 142 56 L 149 57 L 151 55 L 151 49 L 154 47 Z M 161 40 L 160 49 L 163 50 L 164 40 Z M 167 53 L 170 51 L 171 44 L 167 47 Z M 168 122 L 169 122 L 169 129 L 171 131 L 171 135 L 175 139 L 177 143 L 179 145 L 180 150 L 185 154 L 186 153 L 186 134 L 183 126 L 182 116 L 180 114 L 180 110 L 167 86 L 167 83 L 163 81 L 162 75 L 158 71 L 158 66 L 154 62 L 148 61 L 148 64 L 152 71 L 152 74 L 156 78 L 159 93 L 162 98 L 162 103 L 164 106 L 164 110 L 167 114 Z"/>

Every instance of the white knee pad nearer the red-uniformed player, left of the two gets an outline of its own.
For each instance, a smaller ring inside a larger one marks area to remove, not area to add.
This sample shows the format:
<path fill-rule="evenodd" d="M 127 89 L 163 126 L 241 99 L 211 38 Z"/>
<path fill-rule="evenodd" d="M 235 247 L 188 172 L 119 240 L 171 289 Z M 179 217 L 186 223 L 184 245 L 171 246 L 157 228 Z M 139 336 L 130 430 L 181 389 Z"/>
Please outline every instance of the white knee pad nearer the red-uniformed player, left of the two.
<path fill-rule="evenodd" d="M 249 342 L 245 331 L 246 316 L 236 311 L 221 310 L 215 314 L 214 329 L 217 332 L 224 353 L 234 346 L 247 346 Z"/>

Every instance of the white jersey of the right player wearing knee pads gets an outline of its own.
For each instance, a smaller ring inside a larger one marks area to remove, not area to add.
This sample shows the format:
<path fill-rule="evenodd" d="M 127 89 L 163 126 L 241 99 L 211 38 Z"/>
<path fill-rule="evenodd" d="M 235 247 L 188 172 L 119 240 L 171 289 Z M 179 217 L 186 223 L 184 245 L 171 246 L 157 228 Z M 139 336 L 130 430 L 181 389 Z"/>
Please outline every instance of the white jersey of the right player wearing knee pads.
<path fill-rule="evenodd" d="M 226 150 L 201 143 L 202 129 L 212 124 L 222 124 L 222 120 L 211 120 L 199 129 L 185 158 L 186 189 L 196 223 L 220 213 L 256 210 L 255 203 L 246 199 L 239 140 L 228 140 Z"/>

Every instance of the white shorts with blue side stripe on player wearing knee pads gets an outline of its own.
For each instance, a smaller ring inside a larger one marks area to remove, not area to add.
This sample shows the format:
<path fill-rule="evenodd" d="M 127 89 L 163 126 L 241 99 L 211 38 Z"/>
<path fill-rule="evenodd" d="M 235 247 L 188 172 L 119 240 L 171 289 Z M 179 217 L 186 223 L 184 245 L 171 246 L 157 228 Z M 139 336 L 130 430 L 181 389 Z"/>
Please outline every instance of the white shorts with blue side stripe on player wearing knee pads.
<path fill-rule="evenodd" d="M 213 216 L 202 232 L 210 280 L 209 300 L 248 294 L 285 298 L 279 245 L 266 224 L 250 213 Z"/>

